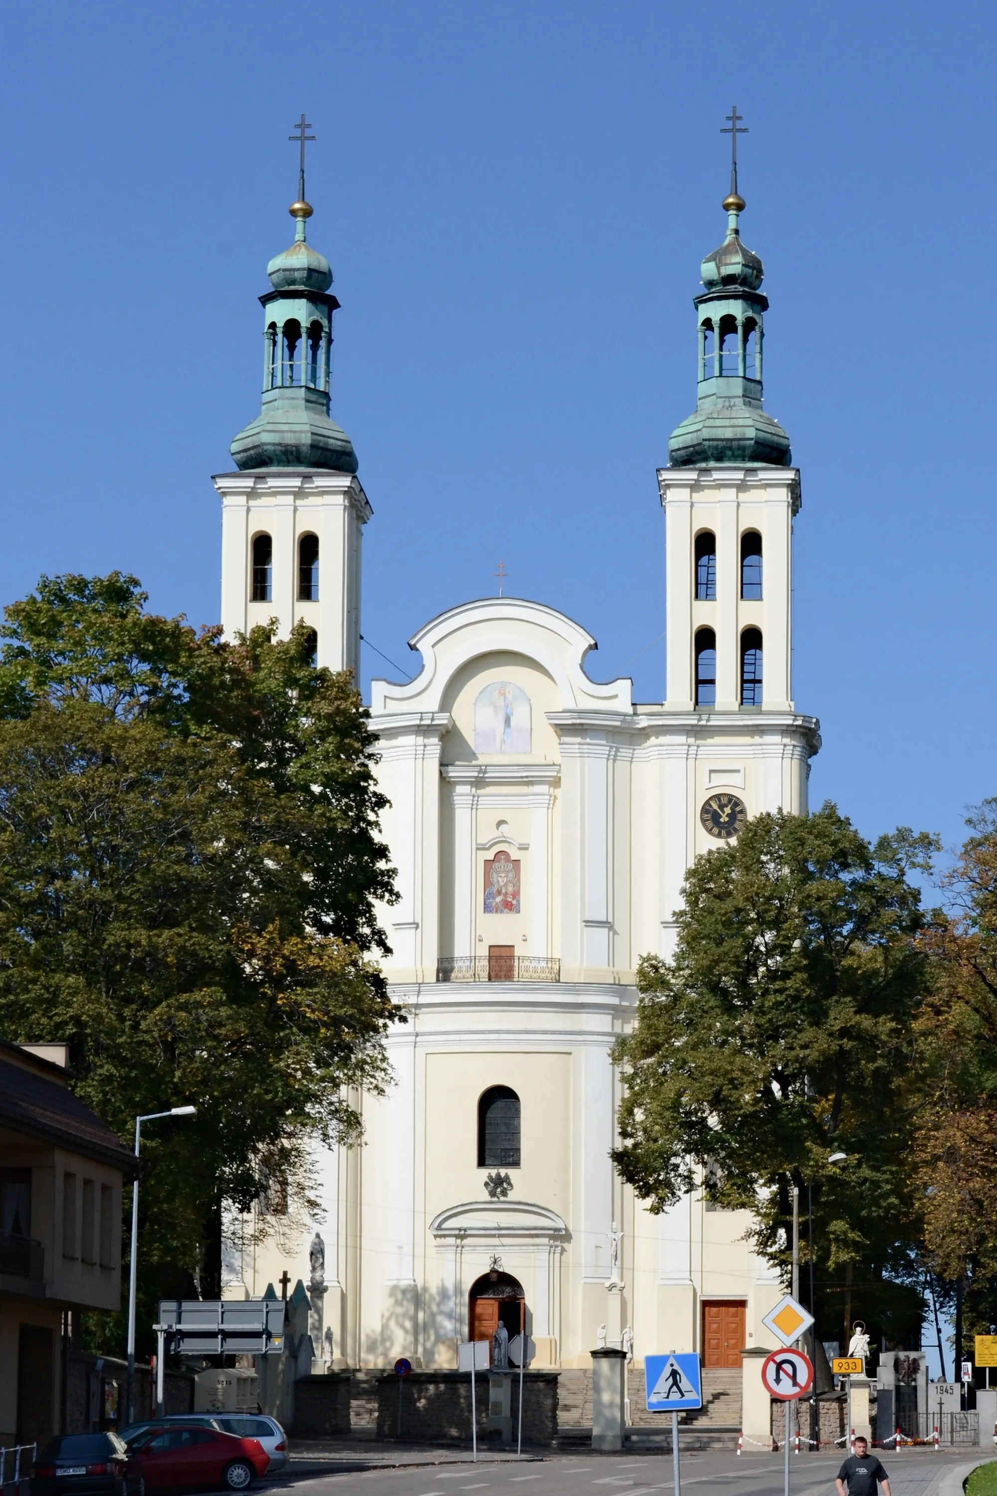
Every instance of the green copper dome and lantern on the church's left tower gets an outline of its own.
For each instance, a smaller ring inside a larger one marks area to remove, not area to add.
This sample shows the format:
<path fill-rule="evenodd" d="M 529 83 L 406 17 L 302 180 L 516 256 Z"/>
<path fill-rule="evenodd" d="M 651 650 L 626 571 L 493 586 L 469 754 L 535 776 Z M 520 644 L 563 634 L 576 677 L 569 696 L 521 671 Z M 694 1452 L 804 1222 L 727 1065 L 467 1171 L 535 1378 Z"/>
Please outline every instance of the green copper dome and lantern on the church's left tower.
<path fill-rule="evenodd" d="M 263 305 L 263 399 L 260 414 L 232 443 L 238 468 L 327 468 L 356 473 L 348 435 L 329 414 L 332 271 L 305 241 L 311 206 L 291 203 L 294 242 L 266 266 L 272 290 Z"/>

